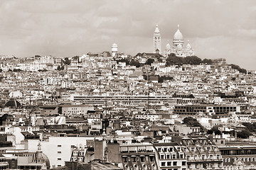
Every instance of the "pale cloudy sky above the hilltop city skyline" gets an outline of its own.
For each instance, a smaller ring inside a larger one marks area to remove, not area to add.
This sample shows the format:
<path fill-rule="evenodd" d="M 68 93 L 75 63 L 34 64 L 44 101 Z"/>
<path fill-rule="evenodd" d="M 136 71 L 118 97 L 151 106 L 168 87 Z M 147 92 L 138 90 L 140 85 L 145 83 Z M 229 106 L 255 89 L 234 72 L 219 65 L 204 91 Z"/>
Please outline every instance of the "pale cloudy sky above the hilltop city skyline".
<path fill-rule="evenodd" d="M 1 0 L 0 55 L 153 52 L 156 24 L 161 51 L 179 24 L 201 59 L 256 70 L 255 0 Z"/>

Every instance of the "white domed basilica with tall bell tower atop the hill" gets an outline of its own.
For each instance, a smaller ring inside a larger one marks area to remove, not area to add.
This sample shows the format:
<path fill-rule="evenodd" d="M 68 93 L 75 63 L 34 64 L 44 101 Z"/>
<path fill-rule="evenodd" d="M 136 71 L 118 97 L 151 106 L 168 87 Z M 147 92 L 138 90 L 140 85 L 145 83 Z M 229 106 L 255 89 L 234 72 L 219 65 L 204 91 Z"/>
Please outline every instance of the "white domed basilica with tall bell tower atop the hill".
<path fill-rule="evenodd" d="M 172 47 L 168 41 L 164 49 L 164 54 L 161 53 L 161 34 L 157 25 L 154 31 L 153 39 L 154 39 L 154 53 L 159 53 L 161 55 L 165 55 L 166 57 L 171 53 L 174 53 L 177 57 L 187 57 L 195 54 L 189 41 L 187 42 L 186 46 L 184 45 L 183 35 L 179 30 L 179 26 L 176 33 L 174 34 Z"/>

